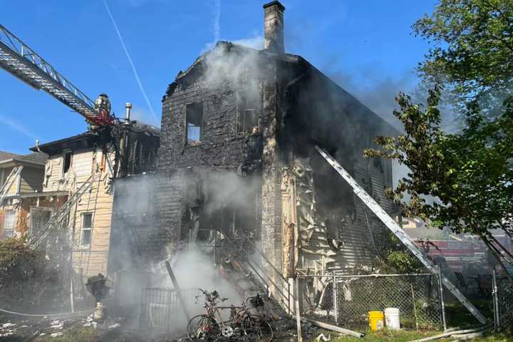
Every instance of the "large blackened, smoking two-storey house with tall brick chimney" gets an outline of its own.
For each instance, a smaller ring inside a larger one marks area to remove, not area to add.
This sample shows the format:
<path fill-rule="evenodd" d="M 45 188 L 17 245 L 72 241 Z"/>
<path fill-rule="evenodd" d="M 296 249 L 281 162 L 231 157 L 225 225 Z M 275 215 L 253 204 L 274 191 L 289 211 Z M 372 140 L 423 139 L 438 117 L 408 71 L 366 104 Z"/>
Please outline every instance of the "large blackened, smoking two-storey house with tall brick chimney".
<path fill-rule="evenodd" d="M 380 249 L 378 219 L 314 147 L 391 211 L 383 192 L 390 162 L 365 159 L 363 149 L 393 128 L 284 52 L 279 1 L 264 5 L 264 27 L 263 50 L 220 41 L 168 86 L 157 177 L 143 187 L 152 206 L 141 215 L 152 223 L 125 231 L 137 255 L 161 261 L 190 246 L 215 253 L 226 239 L 244 239 L 290 278 L 351 272 Z"/>

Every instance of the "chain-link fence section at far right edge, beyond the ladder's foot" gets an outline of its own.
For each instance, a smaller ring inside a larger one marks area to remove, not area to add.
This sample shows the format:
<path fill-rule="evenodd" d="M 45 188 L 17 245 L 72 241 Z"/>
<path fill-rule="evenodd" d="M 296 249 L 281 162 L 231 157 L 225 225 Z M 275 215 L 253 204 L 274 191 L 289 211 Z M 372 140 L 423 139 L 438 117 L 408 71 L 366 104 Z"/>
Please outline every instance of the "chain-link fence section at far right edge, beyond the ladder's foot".
<path fill-rule="evenodd" d="M 512 328 L 513 326 L 513 282 L 505 276 L 493 272 L 493 308 L 496 328 Z"/>

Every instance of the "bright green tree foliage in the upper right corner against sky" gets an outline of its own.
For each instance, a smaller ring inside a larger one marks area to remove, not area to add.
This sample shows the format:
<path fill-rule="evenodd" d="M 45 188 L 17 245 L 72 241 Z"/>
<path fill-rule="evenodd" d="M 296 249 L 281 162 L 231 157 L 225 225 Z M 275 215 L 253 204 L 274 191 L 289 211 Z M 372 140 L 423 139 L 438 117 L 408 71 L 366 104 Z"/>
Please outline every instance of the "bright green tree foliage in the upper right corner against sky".
<path fill-rule="evenodd" d="M 502 110 L 513 94 L 513 1 L 441 0 L 413 30 L 433 45 L 419 64 L 424 81 L 445 84 L 460 110 L 473 100 Z"/>

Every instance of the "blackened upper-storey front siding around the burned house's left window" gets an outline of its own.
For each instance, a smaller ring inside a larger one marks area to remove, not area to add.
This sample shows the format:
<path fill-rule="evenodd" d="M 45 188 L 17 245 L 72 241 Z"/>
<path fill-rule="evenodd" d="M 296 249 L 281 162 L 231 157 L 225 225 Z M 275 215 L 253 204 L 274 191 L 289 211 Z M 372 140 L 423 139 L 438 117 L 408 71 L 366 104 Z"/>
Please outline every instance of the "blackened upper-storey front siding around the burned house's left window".
<path fill-rule="evenodd" d="M 162 103 L 161 171 L 198 166 L 237 169 L 242 164 L 259 164 L 261 135 L 239 136 L 237 100 L 227 84 L 212 89 L 197 81 L 172 87 L 174 91 Z M 186 107 L 199 102 L 203 103 L 201 142 L 187 145 Z"/>

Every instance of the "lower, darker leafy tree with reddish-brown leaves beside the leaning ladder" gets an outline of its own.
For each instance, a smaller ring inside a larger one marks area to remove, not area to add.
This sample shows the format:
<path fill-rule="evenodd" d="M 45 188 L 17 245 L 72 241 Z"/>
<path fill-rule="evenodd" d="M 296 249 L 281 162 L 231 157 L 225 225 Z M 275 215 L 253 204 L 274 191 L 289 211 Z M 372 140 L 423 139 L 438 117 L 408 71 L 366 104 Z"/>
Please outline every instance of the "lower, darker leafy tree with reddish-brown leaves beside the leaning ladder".
<path fill-rule="evenodd" d="M 466 112 L 466 127 L 458 134 L 440 127 L 442 88 L 430 90 L 427 105 L 412 103 L 400 93 L 400 110 L 394 115 L 404 125 L 398 138 L 378 137 L 380 149 L 365 150 L 366 157 L 397 159 L 409 169 L 408 177 L 387 195 L 401 204 L 408 217 L 429 219 L 435 227 L 448 226 L 455 233 L 479 235 L 496 254 L 503 250 L 507 260 L 513 255 L 490 234 L 502 227 L 513 237 L 508 225 L 513 213 L 513 100 L 504 103 L 504 112 L 489 118 L 475 104 Z M 409 202 L 403 202 L 404 195 Z M 435 197 L 427 202 L 426 196 Z"/>

